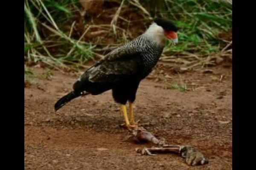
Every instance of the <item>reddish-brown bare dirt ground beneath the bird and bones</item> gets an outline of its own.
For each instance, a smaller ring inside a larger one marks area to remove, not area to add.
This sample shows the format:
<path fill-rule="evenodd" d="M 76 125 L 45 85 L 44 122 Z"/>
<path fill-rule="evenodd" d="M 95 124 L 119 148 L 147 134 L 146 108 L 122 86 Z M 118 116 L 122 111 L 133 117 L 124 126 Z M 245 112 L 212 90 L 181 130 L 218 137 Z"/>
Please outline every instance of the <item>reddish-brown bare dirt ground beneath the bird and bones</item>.
<path fill-rule="evenodd" d="M 118 126 L 123 117 L 111 91 L 74 99 L 55 113 L 54 103 L 70 91 L 78 77 L 54 71 L 50 79 L 35 79 L 24 88 L 25 169 L 232 169 L 232 69 L 211 69 L 213 72 L 169 73 L 170 82 L 184 82 L 189 91 L 165 89 L 163 82 L 145 79 L 134 106 L 135 119 L 150 122 L 145 127 L 148 131 L 171 144 L 198 147 L 209 164 L 190 167 L 177 155 L 136 153 L 136 147 L 152 144 L 122 141 L 128 133 Z"/>

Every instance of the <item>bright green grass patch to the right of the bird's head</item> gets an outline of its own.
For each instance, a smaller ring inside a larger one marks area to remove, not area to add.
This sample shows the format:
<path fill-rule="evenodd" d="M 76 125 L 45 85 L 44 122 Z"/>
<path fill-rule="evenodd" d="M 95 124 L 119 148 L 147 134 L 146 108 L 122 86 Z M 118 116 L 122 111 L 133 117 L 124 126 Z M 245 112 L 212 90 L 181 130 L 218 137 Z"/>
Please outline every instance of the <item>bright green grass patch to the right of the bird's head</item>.
<path fill-rule="evenodd" d="M 166 0 L 164 14 L 179 30 L 180 43 L 166 52 L 189 51 L 211 54 L 219 51 L 217 34 L 232 28 L 232 6 L 224 0 Z"/>

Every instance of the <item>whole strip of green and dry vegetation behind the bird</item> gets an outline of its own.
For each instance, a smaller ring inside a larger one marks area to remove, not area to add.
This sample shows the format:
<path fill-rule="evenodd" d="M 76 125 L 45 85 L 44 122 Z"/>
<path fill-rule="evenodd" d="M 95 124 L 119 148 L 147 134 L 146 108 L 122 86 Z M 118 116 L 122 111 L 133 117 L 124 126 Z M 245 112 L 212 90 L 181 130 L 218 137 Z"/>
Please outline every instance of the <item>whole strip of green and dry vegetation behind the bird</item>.
<path fill-rule="evenodd" d="M 159 15 L 180 28 L 179 43 L 167 42 L 162 61 L 191 69 L 215 65 L 216 56 L 232 59 L 231 0 L 105 0 L 97 9 L 84 10 L 79 0 L 24 0 L 25 64 L 77 71 L 136 37 Z M 219 36 L 230 30 L 231 40 Z"/>

